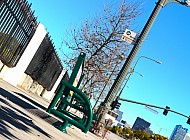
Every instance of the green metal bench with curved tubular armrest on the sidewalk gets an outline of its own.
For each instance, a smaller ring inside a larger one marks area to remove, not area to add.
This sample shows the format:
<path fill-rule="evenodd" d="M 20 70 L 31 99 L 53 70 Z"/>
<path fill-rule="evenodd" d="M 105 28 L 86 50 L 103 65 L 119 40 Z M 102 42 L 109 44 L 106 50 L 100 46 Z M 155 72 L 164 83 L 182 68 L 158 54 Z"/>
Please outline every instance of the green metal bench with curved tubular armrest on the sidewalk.
<path fill-rule="evenodd" d="M 78 75 L 78 72 L 79 70 L 81 70 L 81 66 L 84 63 L 84 57 L 85 54 L 81 53 L 69 81 L 61 81 L 60 89 L 54 96 L 52 102 L 47 109 L 47 112 L 63 120 L 62 125 L 59 126 L 58 129 L 65 133 L 67 133 L 66 127 L 68 126 L 68 124 L 72 124 L 81 129 L 83 132 L 87 133 L 93 118 L 95 118 L 88 97 L 85 93 L 78 89 L 83 77 L 82 74 L 80 76 L 78 85 L 76 87 L 73 86 L 74 79 Z M 71 92 L 72 95 L 70 94 Z M 60 103 L 58 107 L 56 107 L 58 101 L 60 101 Z M 68 111 L 68 107 L 80 111 L 80 113 L 82 113 L 82 117 L 78 116 L 74 112 Z"/>

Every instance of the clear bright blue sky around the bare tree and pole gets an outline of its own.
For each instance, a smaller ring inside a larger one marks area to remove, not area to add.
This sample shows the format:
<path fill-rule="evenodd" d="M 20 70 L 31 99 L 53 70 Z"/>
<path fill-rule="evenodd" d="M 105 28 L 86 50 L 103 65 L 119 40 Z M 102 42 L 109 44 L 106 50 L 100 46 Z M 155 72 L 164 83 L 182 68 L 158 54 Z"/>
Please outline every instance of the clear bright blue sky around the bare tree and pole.
<path fill-rule="evenodd" d="M 119 1 L 119 0 L 118 0 Z M 139 0 L 134 0 L 139 1 Z M 66 30 L 71 26 L 80 26 L 86 18 L 101 12 L 108 0 L 29 0 L 38 21 L 45 25 L 52 36 L 56 48 L 61 46 Z M 150 16 L 156 0 L 143 1 L 144 13 L 136 20 L 137 30 L 142 30 Z M 169 106 L 172 110 L 190 115 L 190 7 L 177 3 L 164 7 L 134 61 L 140 56 L 147 56 L 162 62 L 161 65 L 142 58 L 125 88 L 122 98 L 154 104 L 161 107 Z M 133 64 L 134 64 L 133 63 Z M 121 102 L 124 111 L 123 119 L 133 125 L 136 117 L 151 123 L 155 133 L 170 136 L 175 125 L 181 124 L 188 128 L 187 118 L 156 109 L 159 114 L 145 109 L 144 106 Z M 161 130 L 161 131 L 160 131 Z"/>

